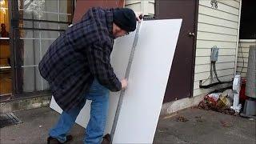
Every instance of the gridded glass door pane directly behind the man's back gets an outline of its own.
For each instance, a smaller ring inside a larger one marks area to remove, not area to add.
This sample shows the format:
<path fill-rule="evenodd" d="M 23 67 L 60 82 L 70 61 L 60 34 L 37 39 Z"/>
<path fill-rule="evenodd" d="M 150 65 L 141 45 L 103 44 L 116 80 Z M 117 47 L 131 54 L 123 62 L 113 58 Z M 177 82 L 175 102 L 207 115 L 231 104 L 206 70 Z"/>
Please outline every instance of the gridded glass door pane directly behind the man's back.
<path fill-rule="evenodd" d="M 22 88 L 22 92 L 49 89 L 49 84 L 39 73 L 38 63 L 62 30 L 66 30 L 67 22 L 71 22 L 71 2 L 72 0 L 19 0 L 21 30 L 19 45 L 15 49 L 19 51 L 22 62 L 22 68 L 17 72 L 18 87 Z"/>

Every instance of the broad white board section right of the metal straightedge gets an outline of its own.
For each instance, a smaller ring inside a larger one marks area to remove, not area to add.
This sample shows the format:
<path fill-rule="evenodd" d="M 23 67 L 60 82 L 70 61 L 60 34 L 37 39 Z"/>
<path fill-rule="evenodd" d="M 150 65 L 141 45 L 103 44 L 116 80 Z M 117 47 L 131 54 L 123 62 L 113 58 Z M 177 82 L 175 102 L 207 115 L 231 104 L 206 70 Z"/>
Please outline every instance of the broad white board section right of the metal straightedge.
<path fill-rule="evenodd" d="M 144 21 L 113 143 L 152 143 L 182 19 Z"/>

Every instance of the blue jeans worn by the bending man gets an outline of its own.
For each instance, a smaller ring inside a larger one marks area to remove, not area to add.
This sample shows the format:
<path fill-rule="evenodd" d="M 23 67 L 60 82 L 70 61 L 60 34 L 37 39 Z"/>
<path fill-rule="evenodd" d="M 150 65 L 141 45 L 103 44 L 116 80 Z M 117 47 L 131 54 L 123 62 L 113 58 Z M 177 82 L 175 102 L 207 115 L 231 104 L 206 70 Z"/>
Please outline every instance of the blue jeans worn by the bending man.
<path fill-rule="evenodd" d="M 90 86 L 89 92 L 85 95 L 84 102 L 74 109 L 66 112 L 63 111 L 58 123 L 50 130 L 50 137 L 57 138 L 59 142 L 66 142 L 66 134 L 70 132 L 74 122 L 78 117 L 80 110 L 86 104 L 86 99 L 91 100 L 90 104 L 90 121 L 86 127 L 84 143 L 98 144 L 102 142 L 106 125 L 106 115 L 109 105 L 110 91 L 94 80 Z"/>

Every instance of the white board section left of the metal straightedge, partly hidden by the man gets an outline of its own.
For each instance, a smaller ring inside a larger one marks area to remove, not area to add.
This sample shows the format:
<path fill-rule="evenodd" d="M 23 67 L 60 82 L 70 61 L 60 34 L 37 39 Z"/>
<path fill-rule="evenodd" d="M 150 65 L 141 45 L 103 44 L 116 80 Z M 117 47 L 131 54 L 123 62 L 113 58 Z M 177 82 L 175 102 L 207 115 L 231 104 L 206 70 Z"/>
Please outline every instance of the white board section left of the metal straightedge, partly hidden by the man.
<path fill-rule="evenodd" d="M 114 40 L 114 46 L 113 46 L 114 48 L 111 53 L 110 60 L 111 60 L 111 65 L 114 68 L 114 73 L 117 75 L 117 77 L 120 80 L 124 78 L 126 74 L 126 67 L 128 65 L 128 61 L 130 58 L 130 50 L 134 42 L 134 34 L 135 33 L 133 32 L 122 38 L 117 38 L 116 40 Z M 109 110 L 108 110 L 108 116 L 106 120 L 105 134 L 110 134 L 110 131 L 112 129 L 112 125 L 114 122 L 114 114 L 118 106 L 119 96 L 120 96 L 120 92 L 110 92 Z M 76 122 L 80 126 L 86 127 L 87 123 L 90 120 L 90 103 L 91 101 L 87 100 L 86 105 L 82 108 L 82 110 L 80 111 L 80 114 L 78 114 L 78 118 L 76 119 Z M 62 109 L 55 102 L 54 98 L 51 99 L 50 108 L 52 108 L 53 110 L 56 110 L 60 114 L 62 113 Z"/>

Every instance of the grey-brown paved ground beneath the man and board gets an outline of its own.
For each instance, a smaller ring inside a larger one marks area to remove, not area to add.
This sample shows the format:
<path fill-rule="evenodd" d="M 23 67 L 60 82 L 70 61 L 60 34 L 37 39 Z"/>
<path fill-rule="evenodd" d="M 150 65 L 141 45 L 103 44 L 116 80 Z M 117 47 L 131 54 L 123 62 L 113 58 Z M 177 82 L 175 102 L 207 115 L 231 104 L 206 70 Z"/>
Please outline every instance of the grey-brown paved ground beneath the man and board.
<path fill-rule="evenodd" d="M 59 114 L 49 107 L 14 113 L 22 123 L 0 129 L 1 144 L 46 143 L 48 130 L 57 122 Z M 162 116 L 154 135 L 154 143 L 230 143 L 256 144 L 255 120 L 211 110 L 189 108 Z M 74 140 L 82 143 L 84 129 L 75 125 L 70 131 Z"/>

